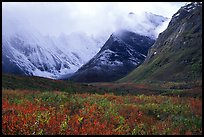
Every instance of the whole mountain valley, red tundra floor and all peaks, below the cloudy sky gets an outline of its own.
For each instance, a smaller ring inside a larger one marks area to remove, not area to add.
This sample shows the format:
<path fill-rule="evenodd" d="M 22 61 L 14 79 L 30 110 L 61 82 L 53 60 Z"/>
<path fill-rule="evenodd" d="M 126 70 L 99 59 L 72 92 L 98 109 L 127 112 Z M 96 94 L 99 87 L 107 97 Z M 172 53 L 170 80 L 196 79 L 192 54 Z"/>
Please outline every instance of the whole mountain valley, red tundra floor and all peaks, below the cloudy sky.
<path fill-rule="evenodd" d="M 202 2 L 158 37 L 168 18 L 142 15 L 100 37 L 43 36 L 22 22 L 5 31 L 6 16 L 2 134 L 202 135 Z"/>

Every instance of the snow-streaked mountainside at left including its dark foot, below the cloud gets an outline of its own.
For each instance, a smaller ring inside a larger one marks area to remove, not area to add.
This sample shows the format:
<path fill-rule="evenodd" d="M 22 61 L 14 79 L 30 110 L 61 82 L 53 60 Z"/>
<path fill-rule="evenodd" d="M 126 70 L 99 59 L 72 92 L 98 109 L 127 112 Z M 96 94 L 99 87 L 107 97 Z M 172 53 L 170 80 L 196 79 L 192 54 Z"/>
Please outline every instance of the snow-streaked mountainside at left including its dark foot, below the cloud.
<path fill-rule="evenodd" d="M 85 35 L 55 39 L 40 34 L 27 36 L 16 33 L 8 39 L 3 37 L 3 72 L 60 78 L 75 72 L 100 49 L 100 43 Z"/>

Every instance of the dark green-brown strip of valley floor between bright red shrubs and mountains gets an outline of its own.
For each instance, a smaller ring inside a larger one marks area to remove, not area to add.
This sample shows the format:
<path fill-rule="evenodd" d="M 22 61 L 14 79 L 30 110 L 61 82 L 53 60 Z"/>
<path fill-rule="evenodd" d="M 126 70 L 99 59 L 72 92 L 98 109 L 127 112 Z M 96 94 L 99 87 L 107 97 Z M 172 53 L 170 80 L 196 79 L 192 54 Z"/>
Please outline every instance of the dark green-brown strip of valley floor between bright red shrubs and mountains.
<path fill-rule="evenodd" d="M 31 91 L 62 91 L 67 93 L 90 93 L 114 95 L 171 95 L 202 97 L 202 81 L 197 82 L 161 82 L 153 83 L 73 83 L 63 80 L 51 80 L 40 77 L 2 75 L 2 89 L 21 89 Z M 179 90 L 179 93 L 175 91 Z"/>

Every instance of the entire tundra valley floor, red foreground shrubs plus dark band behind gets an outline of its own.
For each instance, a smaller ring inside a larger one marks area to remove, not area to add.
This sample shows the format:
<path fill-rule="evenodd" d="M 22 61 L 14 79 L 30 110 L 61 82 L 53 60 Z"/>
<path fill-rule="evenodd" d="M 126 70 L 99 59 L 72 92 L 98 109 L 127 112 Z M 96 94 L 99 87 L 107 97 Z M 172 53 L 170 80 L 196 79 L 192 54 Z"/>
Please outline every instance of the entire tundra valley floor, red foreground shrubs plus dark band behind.
<path fill-rule="evenodd" d="M 3 74 L 4 135 L 201 135 L 202 85 L 72 83 Z"/>

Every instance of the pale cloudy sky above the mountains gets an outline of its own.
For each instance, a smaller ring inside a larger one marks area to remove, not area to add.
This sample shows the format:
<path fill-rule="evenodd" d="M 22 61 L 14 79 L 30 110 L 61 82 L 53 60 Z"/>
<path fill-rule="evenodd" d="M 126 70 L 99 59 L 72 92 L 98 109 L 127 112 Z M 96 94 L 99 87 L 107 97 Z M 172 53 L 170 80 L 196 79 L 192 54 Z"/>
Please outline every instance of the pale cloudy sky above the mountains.
<path fill-rule="evenodd" d="M 116 29 L 129 12 L 142 20 L 143 12 L 171 18 L 186 2 L 3 2 L 3 19 L 13 16 L 29 22 L 44 35 L 85 32 L 100 34 Z M 26 25 L 26 24 L 25 24 Z"/>

